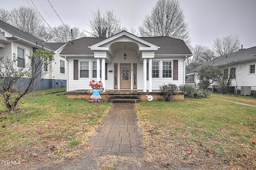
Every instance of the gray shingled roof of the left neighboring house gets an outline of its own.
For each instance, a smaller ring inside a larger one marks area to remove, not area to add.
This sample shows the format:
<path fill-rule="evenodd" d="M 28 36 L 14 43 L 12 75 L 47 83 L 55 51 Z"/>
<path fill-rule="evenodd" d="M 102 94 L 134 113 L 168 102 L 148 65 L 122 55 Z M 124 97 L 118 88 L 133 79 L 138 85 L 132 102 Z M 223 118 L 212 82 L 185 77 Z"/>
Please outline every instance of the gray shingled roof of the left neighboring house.
<path fill-rule="evenodd" d="M 30 43 L 33 43 L 33 44 L 36 44 L 36 42 L 41 43 L 41 41 L 42 41 L 39 38 L 37 38 L 36 36 L 33 36 L 32 34 L 30 34 L 28 32 L 24 32 L 10 24 L 7 24 L 6 22 L 4 22 L 2 20 L 0 20 L 0 28 L 4 29 L 6 32 L 8 32 L 18 38 L 22 38 Z M 66 43 L 62 43 L 62 44 L 45 43 L 44 48 L 46 48 L 48 50 L 56 51 L 58 48 L 60 48 L 64 44 L 66 44 Z"/>

